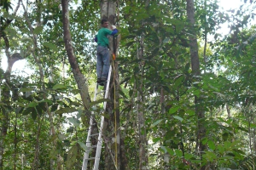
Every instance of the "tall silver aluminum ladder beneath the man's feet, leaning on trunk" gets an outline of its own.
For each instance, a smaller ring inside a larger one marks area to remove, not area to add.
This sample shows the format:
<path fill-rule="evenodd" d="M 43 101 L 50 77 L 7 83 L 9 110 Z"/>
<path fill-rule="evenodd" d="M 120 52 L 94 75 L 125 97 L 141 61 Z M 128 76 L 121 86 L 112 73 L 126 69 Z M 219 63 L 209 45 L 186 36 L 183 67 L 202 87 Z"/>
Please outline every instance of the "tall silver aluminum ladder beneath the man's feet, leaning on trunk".
<path fill-rule="evenodd" d="M 104 99 L 108 99 L 108 89 L 109 89 L 109 83 L 110 83 L 110 78 L 111 78 L 111 72 L 112 72 L 112 67 L 110 65 L 109 67 L 109 71 L 108 71 L 108 80 L 107 83 L 105 84 L 105 96 Z M 94 93 L 94 101 L 96 101 L 96 96 L 97 94 L 101 94 L 104 93 L 104 91 L 98 93 L 98 86 L 99 84 L 96 83 L 96 88 L 95 88 L 95 93 Z M 103 109 L 104 111 L 106 110 L 106 106 L 107 106 L 107 101 L 104 101 L 103 103 Z M 84 160 L 83 160 L 83 167 L 82 170 L 88 170 L 88 162 L 90 160 L 94 160 L 94 166 L 93 166 L 93 170 L 98 170 L 99 169 L 99 164 L 100 164 L 100 158 L 101 158 L 101 152 L 102 152 L 102 128 L 104 126 L 104 116 L 102 116 L 102 120 L 101 120 L 101 126 L 99 128 L 99 132 L 95 133 L 95 134 L 91 134 L 91 128 L 93 126 L 93 120 L 94 120 L 94 111 L 91 111 L 91 116 L 90 116 L 90 127 L 88 130 L 88 134 L 87 134 L 87 139 L 86 139 L 86 150 L 84 152 Z M 96 145 L 91 145 L 90 139 L 91 137 L 95 137 L 98 136 L 98 141 Z M 96 148 L 96 156 L 95 157 L 89 157 L 90 155 L 90 151 Z"/>

